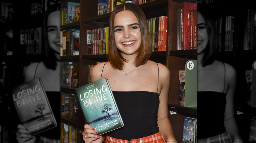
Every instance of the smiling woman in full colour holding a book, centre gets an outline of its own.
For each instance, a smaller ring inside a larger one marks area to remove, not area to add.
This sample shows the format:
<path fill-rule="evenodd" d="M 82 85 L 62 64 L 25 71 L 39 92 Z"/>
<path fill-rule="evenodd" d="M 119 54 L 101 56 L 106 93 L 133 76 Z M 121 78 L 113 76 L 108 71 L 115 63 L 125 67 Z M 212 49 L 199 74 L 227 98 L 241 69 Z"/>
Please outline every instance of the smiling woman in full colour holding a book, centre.
<path fill-rule="evenodd" d="M 169 69 L 149 60 L 151 44 L 147 19 L 133 3 L 120 4 L 109 20 L 108 62 L 91 71 L 92 81 L 107 77 L 124 127 L 97 135 L 85 124 L 85 143 L 177 142 L 168 119 Z M 105 140 L 105 141 L 104 141 Z"/>

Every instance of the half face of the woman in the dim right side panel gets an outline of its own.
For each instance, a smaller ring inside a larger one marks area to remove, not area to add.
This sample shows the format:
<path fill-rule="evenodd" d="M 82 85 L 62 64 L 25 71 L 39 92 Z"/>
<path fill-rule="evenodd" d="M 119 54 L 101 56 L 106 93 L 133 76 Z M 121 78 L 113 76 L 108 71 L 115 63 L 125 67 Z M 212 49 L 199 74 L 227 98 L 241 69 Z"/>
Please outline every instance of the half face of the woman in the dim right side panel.
<path fill-rule="evenodd" d="M 202 53 L 208 43 L 208 33 L 203 16 L 200 12 L 197 15 L 197 54 Z"/>

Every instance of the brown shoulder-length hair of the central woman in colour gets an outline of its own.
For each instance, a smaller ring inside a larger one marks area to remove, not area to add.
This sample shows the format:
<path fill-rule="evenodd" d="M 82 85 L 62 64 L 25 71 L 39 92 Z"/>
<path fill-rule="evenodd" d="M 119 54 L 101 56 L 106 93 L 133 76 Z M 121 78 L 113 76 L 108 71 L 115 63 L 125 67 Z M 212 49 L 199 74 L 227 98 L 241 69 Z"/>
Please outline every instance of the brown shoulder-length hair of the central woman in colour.
<path fill-rule="evenodd" d="M 108 60 L 114 69 L 123 69 L 124 62 L 127 60 L 121 56 L 120 51 L 117 49 L 115 43 L 115 33 L 114 33 L 114 20 L 115 16 L 118 12 L 129 10 L 135 14 L 139 22 L 139 29 L 141 33 L 141 45 L 139 47 L 138 55 L 135 59 L 135 66 L 138 67 L 147 62 L 149 57 L 151 56 L 151 42 L 150 42 L 150 34 L 148 29 L 148 23 L 144 12 L 139 6 L 133 3 L 122 3 L 114 8 L 110 15 L 109 19 L 109 54 Z"/>

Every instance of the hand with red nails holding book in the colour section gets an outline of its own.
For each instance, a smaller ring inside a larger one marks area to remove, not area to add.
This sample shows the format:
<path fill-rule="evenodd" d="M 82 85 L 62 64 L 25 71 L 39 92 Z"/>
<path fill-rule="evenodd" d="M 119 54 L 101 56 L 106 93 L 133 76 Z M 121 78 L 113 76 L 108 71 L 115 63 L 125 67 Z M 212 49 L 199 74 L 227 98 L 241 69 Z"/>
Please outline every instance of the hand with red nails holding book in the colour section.
<path fill-rule="evenodd" d="M 82 133 L 83 140 L 85 143 L 102 143 L 105 140 L 105 135 L 97 135 L 98 132 L 95 131 L 95 128 L 85 124 L 84 131 Z"/>

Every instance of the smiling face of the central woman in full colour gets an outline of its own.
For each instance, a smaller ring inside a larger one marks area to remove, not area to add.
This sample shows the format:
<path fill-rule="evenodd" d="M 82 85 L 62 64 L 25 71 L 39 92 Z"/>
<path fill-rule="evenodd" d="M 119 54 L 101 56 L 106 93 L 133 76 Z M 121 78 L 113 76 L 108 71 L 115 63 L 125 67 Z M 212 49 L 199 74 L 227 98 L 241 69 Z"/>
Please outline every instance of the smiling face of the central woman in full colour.
<path fill-rule="evenodd" d="M 114 20 L 115 43 L 125 55 L 135 54 L 141 44 L 139 22 L 133 12 L 124 10 L 118 12 Z"/>

